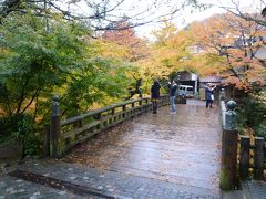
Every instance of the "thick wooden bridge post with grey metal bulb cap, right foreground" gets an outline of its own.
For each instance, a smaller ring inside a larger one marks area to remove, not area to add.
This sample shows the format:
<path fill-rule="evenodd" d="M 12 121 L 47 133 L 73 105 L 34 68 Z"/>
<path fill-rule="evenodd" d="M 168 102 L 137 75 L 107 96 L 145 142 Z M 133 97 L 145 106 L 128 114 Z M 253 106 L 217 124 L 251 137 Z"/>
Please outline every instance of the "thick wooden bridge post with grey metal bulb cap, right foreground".
<path fill-rule="evenodd" d="M 222 102 L 224 103 L 224 101 Z M 222 113 L 223 136 L 222 136 L 222 167 L 221 167 L 221 188 L 231 190 L 237 185 L 237 136 L 236 113 L 234 112 L 236 103 L 229 101 L 226 103 L 227 111 Z"/>

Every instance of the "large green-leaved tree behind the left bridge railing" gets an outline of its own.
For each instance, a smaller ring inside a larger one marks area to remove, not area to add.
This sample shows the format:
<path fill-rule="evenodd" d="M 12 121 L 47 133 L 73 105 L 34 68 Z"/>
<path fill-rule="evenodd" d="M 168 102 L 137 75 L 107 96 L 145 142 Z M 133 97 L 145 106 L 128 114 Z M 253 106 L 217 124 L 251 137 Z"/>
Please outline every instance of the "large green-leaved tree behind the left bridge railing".
<path fill-rule="evenodd" d="M 0 25 L 0 142 L 19 137 L 30 154 L 42 143 L 54 94 L 62 118 L 79 115 L 122 101 L 134 71 L 129 62 L 101 56 L 82 23 L 53 21 L 49 32 L 43 24 L 12 13 Z"/>

